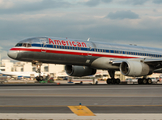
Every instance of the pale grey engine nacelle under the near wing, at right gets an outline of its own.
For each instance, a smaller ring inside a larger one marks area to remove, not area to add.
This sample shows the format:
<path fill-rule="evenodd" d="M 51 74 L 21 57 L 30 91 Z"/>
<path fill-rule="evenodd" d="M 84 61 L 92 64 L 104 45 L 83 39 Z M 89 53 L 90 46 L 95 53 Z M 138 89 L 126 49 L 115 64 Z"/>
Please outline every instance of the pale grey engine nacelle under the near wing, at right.
<path fill-rule="evenodd" d="M 145 76 L 153 73 L 149 65 L 139 61 L 124 61 L 120 64 L 120 71 L 125 76 Z"/>

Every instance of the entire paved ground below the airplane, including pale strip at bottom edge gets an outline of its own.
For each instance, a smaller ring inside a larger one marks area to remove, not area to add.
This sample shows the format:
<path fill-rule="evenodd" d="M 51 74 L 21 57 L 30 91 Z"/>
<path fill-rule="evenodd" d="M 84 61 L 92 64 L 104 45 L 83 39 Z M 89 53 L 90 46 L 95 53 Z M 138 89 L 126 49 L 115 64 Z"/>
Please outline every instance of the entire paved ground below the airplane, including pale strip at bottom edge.
<path fill-rule="evenodd" d="M 161 84 L 3 84 L 0 119 L 160 120 L 161 91 Z M 95 116 L 78 116 L 69 108 L 80 103 Z"/>

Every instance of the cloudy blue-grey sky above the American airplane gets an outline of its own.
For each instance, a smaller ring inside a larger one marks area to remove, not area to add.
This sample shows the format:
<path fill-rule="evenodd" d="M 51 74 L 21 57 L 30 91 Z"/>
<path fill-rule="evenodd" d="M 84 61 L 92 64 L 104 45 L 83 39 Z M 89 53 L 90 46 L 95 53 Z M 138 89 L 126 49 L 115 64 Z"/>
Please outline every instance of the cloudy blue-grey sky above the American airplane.
<path fill-rule="evenodd" d="M 2 58 L 42 36 L 162 48 L 162 0 L 0 0 Z"/>

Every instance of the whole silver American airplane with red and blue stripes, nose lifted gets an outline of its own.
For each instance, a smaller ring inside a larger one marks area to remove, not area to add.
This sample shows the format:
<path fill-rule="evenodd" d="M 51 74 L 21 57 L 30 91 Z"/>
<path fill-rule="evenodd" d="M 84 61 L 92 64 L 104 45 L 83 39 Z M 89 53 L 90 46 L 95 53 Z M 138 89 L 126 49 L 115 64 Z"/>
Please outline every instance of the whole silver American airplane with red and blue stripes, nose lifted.
<path fill-rule="evenodd" d="M 115 71 L 125 76 L 141 77 L 139 84 L 152 84 L 148 75 L 162 73 L 162 49 L 137 45 L 77 40 L 57 37 L 34 37 L 18 42 L 8 56 L 19 61 L 64 64 L 70 76 L 94 75 L 107 70 L 107 84 L 119 84 Z M 41 77 L 41 76 L 40 76 Z"/>

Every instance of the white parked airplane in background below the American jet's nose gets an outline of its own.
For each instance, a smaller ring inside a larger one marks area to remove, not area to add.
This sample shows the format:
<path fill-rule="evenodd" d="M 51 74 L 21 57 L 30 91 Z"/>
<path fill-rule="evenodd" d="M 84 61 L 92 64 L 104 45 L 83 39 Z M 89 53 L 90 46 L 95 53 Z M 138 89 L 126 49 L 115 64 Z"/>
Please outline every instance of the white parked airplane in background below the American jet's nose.
<path fill-rule="evenodd" d="M 24 78 L 30 78 L 31 75 L 34 75 L 34 77 L 39 76 L 39 73 L 36 72 L 6 72 L 6 71 L 1 71 L 0 74 L 2 75 L 7 75 L 7 76 L 16 76 L 18 78 L 24 77 Z M 43 76 L 43 73 L 41 73 L 41 76 Z"/>

